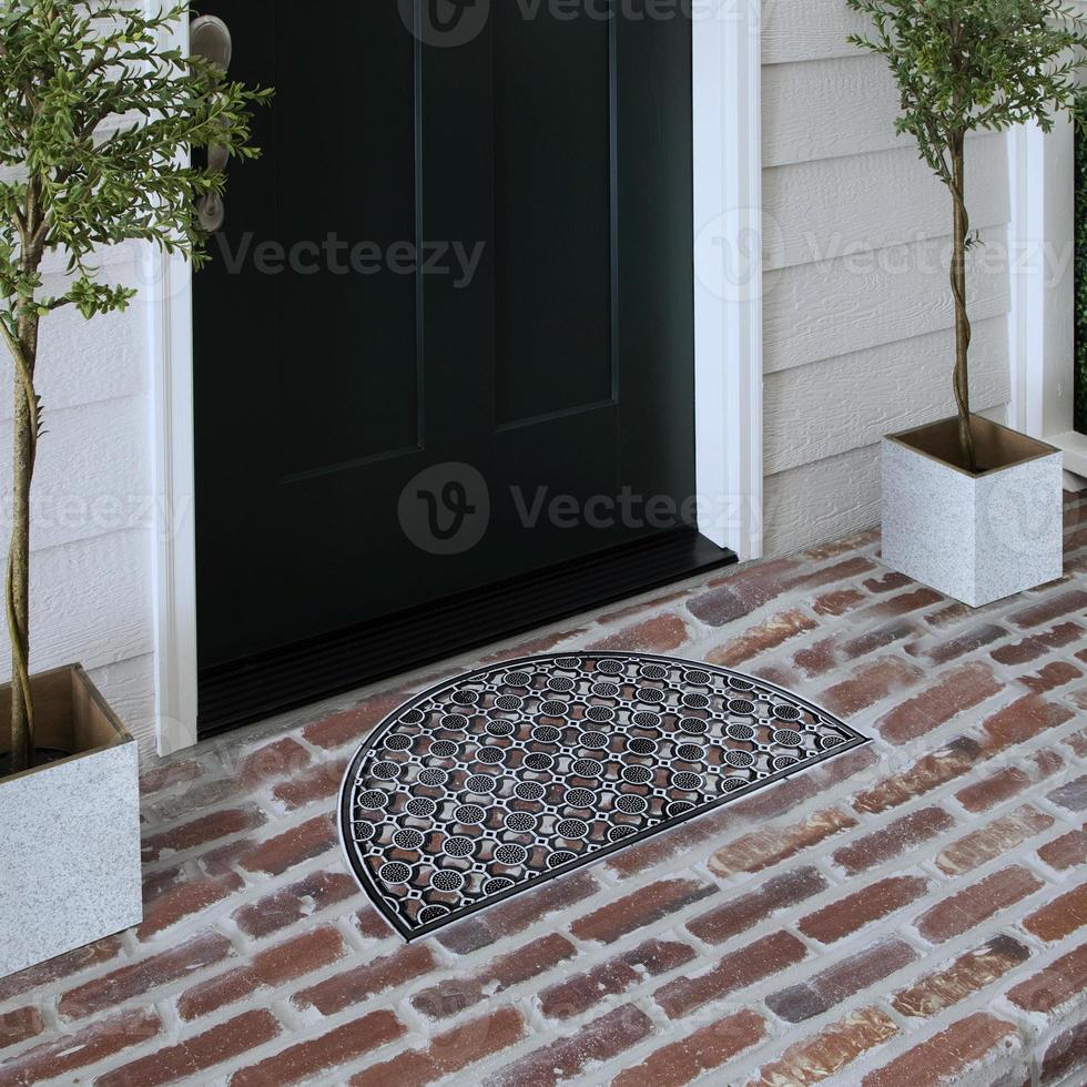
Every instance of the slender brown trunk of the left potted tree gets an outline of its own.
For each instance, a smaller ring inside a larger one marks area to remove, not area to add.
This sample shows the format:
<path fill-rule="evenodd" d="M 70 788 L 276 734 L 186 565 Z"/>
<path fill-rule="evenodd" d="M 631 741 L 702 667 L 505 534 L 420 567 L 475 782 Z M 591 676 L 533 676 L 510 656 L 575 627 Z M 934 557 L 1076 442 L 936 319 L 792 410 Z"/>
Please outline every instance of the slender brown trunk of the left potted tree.
<path fill-rule="evenodd" d="M 22 358 L 14 366 L 14 459 L 7 585 L 12 773 L 29 770 L 34 763 L 34 711 L 30 694 L 30 487 L 38 450 L 38 398 L 33 388 L 37 317 L 20 321 L 19 348 Z"/>

